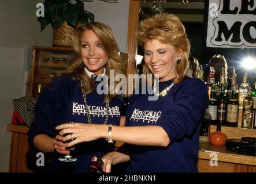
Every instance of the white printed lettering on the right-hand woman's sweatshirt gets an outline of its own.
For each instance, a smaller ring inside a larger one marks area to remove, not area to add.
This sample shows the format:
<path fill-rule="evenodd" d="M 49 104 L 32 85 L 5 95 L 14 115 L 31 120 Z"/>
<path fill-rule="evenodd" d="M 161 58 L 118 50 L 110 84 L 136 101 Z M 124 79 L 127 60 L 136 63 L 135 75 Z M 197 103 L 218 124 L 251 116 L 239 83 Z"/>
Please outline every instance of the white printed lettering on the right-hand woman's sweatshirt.
<path fill-rule="evenodd" d="M 134 109 L 132 116 L 130 120 L 133 121 L 139 121 L 142 120 L 147 121 L 148 123 L 156 123 L 158 118 L 161 117 L 161 111 L 153 111 L 153 110 L 139 110 L 139 109 Z"/>

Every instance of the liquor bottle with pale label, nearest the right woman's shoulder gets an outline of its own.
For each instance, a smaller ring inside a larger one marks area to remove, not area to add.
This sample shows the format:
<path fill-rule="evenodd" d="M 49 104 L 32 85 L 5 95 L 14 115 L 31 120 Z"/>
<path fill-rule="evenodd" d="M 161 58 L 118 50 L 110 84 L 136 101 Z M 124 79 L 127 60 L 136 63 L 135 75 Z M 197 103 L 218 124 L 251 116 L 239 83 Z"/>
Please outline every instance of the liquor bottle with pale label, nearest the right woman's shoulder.
<path fill-rule="evenodd" d="M 218 104 L 217 104 L 217 98 L 215 94 L 214 88 L 212 88 L 210 98 L 209 98 L 209 113 L 212 116 L 212 125 L 217 125 L 217 112 L 218 112 Z"/>

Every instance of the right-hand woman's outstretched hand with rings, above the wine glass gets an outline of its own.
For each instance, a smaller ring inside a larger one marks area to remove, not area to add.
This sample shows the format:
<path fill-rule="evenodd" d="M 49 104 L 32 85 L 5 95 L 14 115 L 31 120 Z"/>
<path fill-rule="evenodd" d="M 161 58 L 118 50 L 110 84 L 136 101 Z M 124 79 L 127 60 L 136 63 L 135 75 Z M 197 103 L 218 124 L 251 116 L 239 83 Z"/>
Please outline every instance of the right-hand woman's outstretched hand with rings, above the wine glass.
<path fill-rule="evenodd" d="M 66 133 L 71 133 L 62 139 L 64 142 L 71 140 L 71 142 L 67 144 L 68 147 L 71 147 L 77 143 L 101 138 L 101 130 L 104 129 L 104 127 L 97 124 L 72 123 L 58 125 L 56 129 L 62 129 L 60 131 L 61 136 L 64 136 Z"/>

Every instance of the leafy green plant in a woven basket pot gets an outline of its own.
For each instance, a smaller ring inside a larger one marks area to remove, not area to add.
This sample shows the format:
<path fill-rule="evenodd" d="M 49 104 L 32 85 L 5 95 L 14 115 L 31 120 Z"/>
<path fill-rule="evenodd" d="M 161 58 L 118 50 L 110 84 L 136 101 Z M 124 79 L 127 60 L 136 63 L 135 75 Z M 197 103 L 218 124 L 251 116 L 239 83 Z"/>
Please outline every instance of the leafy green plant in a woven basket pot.
<path fill-rule="evenodd" d="M 41 31 L 53 26 L 53 45 L 72 46 L 71 33 L 77 24 L 94 21 L 94 14 L 84 10 L 81 0 L 44 0 L 44 17 L 38 17 Z"/>

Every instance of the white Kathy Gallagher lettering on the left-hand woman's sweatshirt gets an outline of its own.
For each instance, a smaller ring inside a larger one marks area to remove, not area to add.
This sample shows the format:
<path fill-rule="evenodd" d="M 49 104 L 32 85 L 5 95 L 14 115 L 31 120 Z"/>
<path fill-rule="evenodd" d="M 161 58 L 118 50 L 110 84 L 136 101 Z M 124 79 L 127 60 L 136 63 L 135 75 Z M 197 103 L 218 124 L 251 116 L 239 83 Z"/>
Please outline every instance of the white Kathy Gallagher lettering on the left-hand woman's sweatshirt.
<path fill-rule="evenodd" d="M 106 116 L 106 107 L 104 106 L 91 106 L 88 105 L 90 110 L 90 114 L 93 116 Z M 78 115 L 83 114 L 86 115 L 86 106 L 83 104 L 78 104 L 77 102 L 73 102 L 73 115 L 77 113 Z M 109 107 L 109 116 L 117 116 L 120 117 L 120 111 L 118 106 Z"/>

